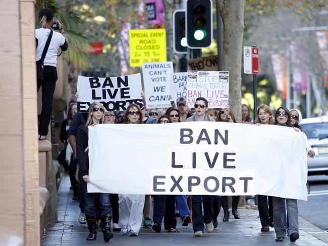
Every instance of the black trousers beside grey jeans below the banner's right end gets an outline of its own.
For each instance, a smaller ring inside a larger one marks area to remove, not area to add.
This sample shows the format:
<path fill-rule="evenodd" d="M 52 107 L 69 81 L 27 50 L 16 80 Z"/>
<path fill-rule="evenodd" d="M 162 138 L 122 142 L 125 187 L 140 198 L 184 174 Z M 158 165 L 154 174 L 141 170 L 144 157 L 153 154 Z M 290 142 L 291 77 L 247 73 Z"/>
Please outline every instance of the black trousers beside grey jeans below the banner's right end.
<path fill-rule="evenodd" d="M 258 215 L 260 217 L 262 227 L 270 226 L 270 222 L 274 221 L 272 197 L 257 195 L 257 201 L 258 201 Z"/>

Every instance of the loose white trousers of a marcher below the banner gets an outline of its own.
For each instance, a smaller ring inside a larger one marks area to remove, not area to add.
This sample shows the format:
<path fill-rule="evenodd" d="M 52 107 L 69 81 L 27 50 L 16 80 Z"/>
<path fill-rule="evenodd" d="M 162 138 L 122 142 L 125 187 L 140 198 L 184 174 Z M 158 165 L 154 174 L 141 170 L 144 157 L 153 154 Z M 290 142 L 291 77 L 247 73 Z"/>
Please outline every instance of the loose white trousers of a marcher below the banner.
<path fill-rule="evenodd" d="M 143 218 L 143 206 L 145 195 L 121 195 L 119 194 L 119 224 L 128 225 L 129 230 L 139 233 Z"/>

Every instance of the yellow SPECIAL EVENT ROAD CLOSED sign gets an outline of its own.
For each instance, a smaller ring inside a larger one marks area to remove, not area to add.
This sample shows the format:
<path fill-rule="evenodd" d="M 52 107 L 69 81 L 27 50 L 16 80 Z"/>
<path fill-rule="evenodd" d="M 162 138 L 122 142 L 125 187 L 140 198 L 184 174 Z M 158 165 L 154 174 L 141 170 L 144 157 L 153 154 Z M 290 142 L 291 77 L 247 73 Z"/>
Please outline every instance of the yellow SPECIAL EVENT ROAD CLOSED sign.
<path fill-rule="evenodd" d="M 130 30 L 130 66 L 167 61 L 165 29 Z"/>

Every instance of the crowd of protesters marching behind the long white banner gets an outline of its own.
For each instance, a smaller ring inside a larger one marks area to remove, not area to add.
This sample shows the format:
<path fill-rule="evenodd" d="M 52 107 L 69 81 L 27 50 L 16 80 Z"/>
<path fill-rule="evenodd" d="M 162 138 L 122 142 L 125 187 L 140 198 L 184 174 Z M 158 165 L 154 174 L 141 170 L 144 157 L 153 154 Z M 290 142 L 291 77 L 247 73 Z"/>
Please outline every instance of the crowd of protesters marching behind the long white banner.
<path fill-rule="evenodd" d="M 288 110 L 279 107 L 274 113 L 267 105 L 260 105 L 256 111 L 256 121 L 250 117 L 250 108 L 242 105 L 242 122 L 247 124 L 278 125 L 293 127 L 301 132 L 299 126 L 302 114 L 298 109 Z M 162 220 L 164 229 L 176 232 L 177 214 L 182 226 L 192 223 L 194 236 L 201 236 L 206 230 L 211 233 L 218 226 L 217 216 L 221 206 L 224 211 L 223 222 L 229 221 L 229 203 L 227 196 L 209 195 L 126 195 L 87 193 L 89 182 L 88 168 L 88 127 L 96 124 L 168 124 L 183 121 L 222 121 L 236 123 L 233 110 L 228 108 L 210 109 L 208 101 L 199 97 L 190 109 L 186 98 L 179 97 L 172 102 L 167 110 L 139 107 L 136 104 L 128 106 L 126 111 L 105 112 L 101 103 L 94 102 L 87 113 L 76 113 L 76 104 L 69 106 L 67 119 L 61 127 L 61 140 L 66 146 L 67 171 L 70 174 L 73 190 L 73 200 L 79 200 L 80 215 L 78 221 L 87 223 L 89 235 L 87 240 L 95 240 L 97 228 L 101 227 L 104 241 L 113 238 L 113 230 L 124 235 L 138 236 L 140 228 L 161 231 Z M 306 146 L 307 154 L 314 156 L 310 146 Z M 238 213 L 239 196 L 232 197 L 232 215 L 240 219 Z M 153 216 L 150 219 L 153 199 Z M 283 241 L 289 235 L 290 241 L 299 238 L 298 209 L 296 199 L 284 199 L 258 195 L 258 211 L 261 231 L 267 232 L 270 227 L 276 231 L 276 241 Z"/>

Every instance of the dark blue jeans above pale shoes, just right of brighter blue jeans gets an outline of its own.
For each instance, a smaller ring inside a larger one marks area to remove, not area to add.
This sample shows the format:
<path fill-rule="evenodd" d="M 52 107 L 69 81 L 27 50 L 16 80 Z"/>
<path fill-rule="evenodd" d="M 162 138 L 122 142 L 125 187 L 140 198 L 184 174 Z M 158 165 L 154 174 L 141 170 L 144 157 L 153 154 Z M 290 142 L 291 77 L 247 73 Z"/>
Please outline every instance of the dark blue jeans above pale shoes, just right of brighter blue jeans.
<path fill-rule="evenodd" d="M 204 223 L 208 224 L 213 220 L 213 196 L 193 195 L 192 199 L 192 227 L 194 232 L 204 232 Z M 204 215 L 202 211 L 202 203 Z"/>

